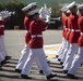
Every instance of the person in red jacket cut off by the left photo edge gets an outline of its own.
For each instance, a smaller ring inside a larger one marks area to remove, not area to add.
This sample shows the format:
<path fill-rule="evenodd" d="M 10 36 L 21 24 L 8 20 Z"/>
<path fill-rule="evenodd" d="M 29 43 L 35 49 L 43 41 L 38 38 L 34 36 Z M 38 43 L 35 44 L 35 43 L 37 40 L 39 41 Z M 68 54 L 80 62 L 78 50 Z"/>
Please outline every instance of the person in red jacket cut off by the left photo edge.
<path fill-rule="evenodd" d="M 4 24 L 7 23 L 9 14 L 7 11 L 0 12 L 0 55 L 1 55 L 1 65 L 5 63 L 5 60 L 10 59 L 11 56 L 8 55 L 5 45 L 4 45 Z"/>

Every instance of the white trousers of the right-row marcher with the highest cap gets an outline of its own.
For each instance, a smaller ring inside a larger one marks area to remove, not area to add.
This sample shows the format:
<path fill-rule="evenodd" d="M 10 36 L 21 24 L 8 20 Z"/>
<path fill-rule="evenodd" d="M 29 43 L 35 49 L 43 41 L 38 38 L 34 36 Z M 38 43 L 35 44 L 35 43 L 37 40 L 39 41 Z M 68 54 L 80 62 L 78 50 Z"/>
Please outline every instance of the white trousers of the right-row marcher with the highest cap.
<path fill-rule="evenodd" d="M 69 48 L 69 51 L 67 53 L 63 70 L 70 69 L 72 60 L 78 53 L 78 50 L 79 50 L 78 43 L 70 43 L 70 48 Z"/>

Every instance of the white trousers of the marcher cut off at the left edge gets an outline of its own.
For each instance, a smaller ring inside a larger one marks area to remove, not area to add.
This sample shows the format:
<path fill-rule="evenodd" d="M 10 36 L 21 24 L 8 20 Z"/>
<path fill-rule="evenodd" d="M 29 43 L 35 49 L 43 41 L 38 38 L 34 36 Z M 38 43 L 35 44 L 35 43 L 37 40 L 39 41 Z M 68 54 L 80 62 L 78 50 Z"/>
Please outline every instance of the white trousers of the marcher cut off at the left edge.
<path fill-rule="evenodd" d="M 8 53 L 7 53 L 7 50 L 5 50 L 5 45 L 4 45 L 4 35 L 0 36 L 0 49 L 1 49 L 2 55 L 4 57 L 8 56 Z"/>

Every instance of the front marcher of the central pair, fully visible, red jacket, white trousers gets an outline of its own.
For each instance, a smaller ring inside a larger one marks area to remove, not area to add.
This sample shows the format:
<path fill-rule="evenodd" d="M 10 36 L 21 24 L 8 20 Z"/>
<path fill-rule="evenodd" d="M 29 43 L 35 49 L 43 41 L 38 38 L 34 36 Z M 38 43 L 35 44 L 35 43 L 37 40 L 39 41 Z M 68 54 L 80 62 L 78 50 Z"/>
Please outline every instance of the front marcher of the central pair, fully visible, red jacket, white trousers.
<path fill-rule="evenodd" d="M 32 39 L 29 40 L 28 46 L 31 48 L 29 54 L 26 60 L 25 66 L 23 67 L 23 70 L 21 72 L 21 77 L 25 79 L 32 79 L 28 77 L 29 75 L 29 69 L 32 67 L 33 62 L 36 58 L 39 58 L 39 64 L 42 65 L 43 71 L 48 80 L 51 78 L 56 77 L 56 75 L 52 75 L 52 71 L 48 67 L 45 52 L 43 50 L 43 31 L 46 30 L 48 24 L 40 21 L 39 18 L 39 13 L 38 9 L 33 10 L 28 13 L 33 21 L 29 25 L 29 30 L 31 30 L 31 37 Z"/>

